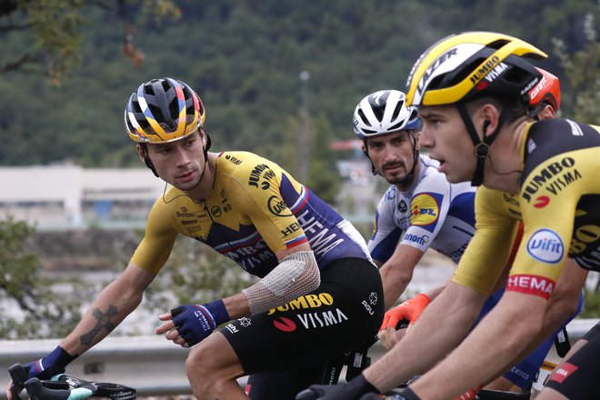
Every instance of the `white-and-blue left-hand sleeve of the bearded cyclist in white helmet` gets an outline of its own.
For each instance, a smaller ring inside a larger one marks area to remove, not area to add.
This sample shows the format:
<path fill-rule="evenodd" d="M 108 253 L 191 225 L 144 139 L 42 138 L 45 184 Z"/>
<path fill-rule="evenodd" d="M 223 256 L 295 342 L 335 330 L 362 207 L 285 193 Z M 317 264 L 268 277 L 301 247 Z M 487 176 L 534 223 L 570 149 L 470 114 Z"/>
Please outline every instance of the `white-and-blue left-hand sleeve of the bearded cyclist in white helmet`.
<path fill-rule="evenodd" d="M 390 187 L 379 201 L 375 211 L 373 235 L 367 247 L 371 257 L 385 263 L 394 254 L 404 230 L 394 223 L 395 189 Z"/>

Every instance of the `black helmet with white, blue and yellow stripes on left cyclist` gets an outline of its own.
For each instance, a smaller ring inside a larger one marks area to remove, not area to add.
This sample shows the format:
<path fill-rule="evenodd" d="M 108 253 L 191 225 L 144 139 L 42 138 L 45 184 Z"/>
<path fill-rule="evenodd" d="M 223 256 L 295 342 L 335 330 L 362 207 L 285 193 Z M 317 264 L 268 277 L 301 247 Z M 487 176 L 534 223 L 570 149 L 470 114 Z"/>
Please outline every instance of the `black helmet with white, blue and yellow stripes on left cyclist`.
<path fill-rule="evenodd" d="M 139 85 L 125 106 L 125 128 L 137 143 L 168 143 L 205 123 L 202 100 L 184 82 L 153 79 Z"/>

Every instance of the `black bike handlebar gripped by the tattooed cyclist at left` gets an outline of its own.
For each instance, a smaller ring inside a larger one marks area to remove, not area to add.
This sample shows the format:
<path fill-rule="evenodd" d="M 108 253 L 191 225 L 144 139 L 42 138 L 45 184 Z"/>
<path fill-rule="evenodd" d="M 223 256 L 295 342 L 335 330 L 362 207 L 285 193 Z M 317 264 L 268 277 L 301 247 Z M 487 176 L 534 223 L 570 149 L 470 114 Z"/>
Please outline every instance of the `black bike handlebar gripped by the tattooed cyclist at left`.
<path fill-rule="evenodd" d="M 15 364 L 8 368 L 13 379 L 11 393 L 13 399 L 25 387 L 30 400 L 79 400 L 91 396 L 111 400 L 135 400 L 135 389 L 107 382 L 92 382 L 72 375 L 55 375 L 51 380 L 27 379 L 27 370 L 23 365 Z"/>

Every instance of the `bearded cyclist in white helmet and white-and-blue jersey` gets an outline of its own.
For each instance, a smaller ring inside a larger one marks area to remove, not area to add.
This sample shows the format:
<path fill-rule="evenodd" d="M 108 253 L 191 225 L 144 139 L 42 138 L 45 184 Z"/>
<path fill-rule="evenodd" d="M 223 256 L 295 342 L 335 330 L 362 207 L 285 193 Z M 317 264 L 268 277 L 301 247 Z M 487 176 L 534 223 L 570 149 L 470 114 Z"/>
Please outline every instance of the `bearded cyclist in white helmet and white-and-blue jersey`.
<path fill-rule="evenodd" d="M 400 91 L 378 91 L 356 105 L 355 135 L 374 174 L 391 184 L 377 206 L 368 243 L 381 266 L 385 308 L 405 292 L 429 247 L 458 262 L 475 232 L 475 188 L 448 183 L 438 163 L 419 154 L 418 129 L 417 110 L 406 106 Z"/>

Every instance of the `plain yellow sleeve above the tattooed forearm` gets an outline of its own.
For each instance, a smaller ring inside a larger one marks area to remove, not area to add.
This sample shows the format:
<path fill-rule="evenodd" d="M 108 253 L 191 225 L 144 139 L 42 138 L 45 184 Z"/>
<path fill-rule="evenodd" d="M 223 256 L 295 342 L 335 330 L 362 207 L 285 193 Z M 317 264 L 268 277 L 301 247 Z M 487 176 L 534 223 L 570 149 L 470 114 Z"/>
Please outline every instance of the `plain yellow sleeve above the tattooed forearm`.
<path fill-rule="evenodd" d="M 177 230 L 167 207 L 162 199 L 156 200 L 148 216 L 144 238 L 135 249 L 131 262 L 151 274 L 158 274 L 171 255 L 176 236 Z"/>

